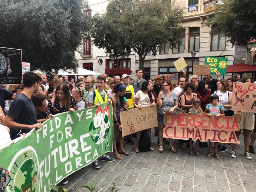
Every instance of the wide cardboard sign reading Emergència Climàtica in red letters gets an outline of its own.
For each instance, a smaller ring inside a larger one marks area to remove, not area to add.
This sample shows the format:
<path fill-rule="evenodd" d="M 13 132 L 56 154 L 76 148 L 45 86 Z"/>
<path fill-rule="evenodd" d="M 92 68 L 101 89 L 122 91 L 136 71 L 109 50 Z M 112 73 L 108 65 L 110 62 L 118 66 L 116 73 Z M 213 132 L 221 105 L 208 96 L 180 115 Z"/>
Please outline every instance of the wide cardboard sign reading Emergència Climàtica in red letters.
<path fill-rule="evenodd" d="M 171 113 L 164 114 L 164 138 L 185 139 L 192 138 L 200 141 L 220 143 L 240 143 L 235 131 L 240 130 L 240 114 L 230 117 L 209 116 L 204 112 L 192 115 L 178 113 L 177 116 Z"/>

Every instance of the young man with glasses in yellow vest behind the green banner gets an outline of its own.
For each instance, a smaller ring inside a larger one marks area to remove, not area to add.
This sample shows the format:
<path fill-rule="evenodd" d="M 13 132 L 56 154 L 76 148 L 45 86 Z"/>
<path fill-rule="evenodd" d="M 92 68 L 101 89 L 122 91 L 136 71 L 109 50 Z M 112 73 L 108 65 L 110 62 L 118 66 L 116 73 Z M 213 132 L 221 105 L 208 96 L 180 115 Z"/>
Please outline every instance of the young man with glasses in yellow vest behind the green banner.
<path fill-rule="evenodd" d="M 108 92 L 104 89 L 104 86 L 106 83 L 106 78 L 103 75 L 99 75 L 97 77 L 96 83 L 97 83 L 98 88 L 89 94 L 88 107 L 99 106 L 99 104 L 105 103 L 105 102 L 107 102 L 108 105 L 110 105 L 111 99 L 108 98 Z M 115 159 L 109 157 L 109 155 L 104 154 L 101 156 L 101 161 L 113 162 L 113 161 L 115 161 Z M 92 167 L 94 169 L 100 168 L 97 159 L 95 161 L 93 161 Z"/>

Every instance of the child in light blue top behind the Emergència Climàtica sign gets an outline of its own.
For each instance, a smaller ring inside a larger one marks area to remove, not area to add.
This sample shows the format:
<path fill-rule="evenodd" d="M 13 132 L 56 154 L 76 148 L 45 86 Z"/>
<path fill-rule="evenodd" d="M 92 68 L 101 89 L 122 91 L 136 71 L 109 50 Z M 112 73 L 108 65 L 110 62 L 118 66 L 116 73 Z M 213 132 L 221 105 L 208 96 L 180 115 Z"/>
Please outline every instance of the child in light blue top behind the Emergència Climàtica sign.
<path fill-rule="evenodd" d="M 224 114 L 224 107 L 222 105 L 219 105 L 219 96 L 214 94 L 210 97 L 210 103 L 206 106 L 206 112 L 209 116 L 215 115 L 215 118 L 218 119 L 220 116 L 225 116 Z M 213 155 L 213 150 L 211 149 L 213 146 L 213 143 L 209 140 L 209 153 L 207 157 L 211 158 Z M 218 143 L 214 142 L 214 156 L 216 159 L 220 159 L 218 151 Z"/>

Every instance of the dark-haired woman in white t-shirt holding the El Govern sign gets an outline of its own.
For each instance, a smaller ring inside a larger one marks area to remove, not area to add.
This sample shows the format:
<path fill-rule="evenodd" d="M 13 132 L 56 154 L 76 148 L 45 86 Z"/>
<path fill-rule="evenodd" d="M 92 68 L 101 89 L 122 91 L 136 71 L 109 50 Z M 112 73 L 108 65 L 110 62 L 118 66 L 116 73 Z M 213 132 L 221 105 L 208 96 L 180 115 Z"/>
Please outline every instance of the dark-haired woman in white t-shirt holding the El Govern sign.
<path fill-rule="evenodd" d="M 142 109 L 145 106 L 153 107 L 155 105 L 154 96 L 152 95 L 151 84 L 148 81 L 144 81 L 141 85 L 141 90 L 139 90 L 134 98 L 133 105 L 138 109 Z M 150 136 L 151 129 L 147 129 L 147 133 Z M 141 131 L 136 133 L 137 146 L 135 152 L 139 153 L 139 142 L 141 138 Z M 150 147 L 151 151 L 154 151 L 154 148 Z"/>

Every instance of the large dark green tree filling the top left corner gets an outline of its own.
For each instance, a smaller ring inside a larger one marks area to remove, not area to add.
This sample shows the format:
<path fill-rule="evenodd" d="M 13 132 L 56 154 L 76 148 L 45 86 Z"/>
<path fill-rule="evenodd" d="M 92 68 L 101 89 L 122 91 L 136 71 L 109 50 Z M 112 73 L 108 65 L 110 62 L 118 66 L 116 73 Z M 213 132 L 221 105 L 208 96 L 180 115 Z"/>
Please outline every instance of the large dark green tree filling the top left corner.
<path fill-rule="evenodd" d="M 0 46 L 22 49 L 30 69 L 75 69 L 91 26 L 85 9 L 83 0 L 0 0 Z"/>

